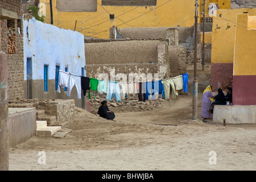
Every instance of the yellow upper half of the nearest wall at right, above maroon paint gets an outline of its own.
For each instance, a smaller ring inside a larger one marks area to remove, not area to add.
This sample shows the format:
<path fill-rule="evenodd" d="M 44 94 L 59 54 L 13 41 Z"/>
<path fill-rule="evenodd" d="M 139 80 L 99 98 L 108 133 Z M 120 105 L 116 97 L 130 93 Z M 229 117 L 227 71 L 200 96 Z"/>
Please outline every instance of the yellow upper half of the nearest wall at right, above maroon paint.
<path fill-rule="evenodd" d="M 256 31 L 247 29 L 248 14 L 237 14 L 234 75 L 256 75 Z M 255 22 L 256 23 L 256 20 Z"/>

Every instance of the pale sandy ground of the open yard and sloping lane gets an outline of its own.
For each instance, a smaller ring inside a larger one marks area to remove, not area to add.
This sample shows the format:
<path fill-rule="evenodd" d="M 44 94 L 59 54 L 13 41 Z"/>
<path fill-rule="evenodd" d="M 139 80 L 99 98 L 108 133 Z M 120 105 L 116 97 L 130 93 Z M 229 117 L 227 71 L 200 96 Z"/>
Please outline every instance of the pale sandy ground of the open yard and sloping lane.
<path fill-rule="evenodd" d="M 10 170 L 255 170 L 256 125 L 201 122 L 209 69 L 198 74 L 200 120 L 191 120 L 190 71 L 188 96 L 162 102 L 159 109 L 115 112 L 114 122 L 76 107 L 68 125 L 72 133 L 32 137 L 10 148 Z M 39 164 L 40 151 L 46 164 Z"/>

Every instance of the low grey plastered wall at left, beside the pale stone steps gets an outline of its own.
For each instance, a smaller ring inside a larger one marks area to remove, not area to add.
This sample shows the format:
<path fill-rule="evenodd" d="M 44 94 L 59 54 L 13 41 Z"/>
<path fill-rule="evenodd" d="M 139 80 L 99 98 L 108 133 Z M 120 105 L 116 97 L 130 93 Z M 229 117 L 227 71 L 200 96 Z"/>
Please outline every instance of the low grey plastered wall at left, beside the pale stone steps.
<path fill-rule="evenodd" d="M 9 146 L 15 147 L 35 135 L 36 111 L 34 108 L 9 107 Z"/>

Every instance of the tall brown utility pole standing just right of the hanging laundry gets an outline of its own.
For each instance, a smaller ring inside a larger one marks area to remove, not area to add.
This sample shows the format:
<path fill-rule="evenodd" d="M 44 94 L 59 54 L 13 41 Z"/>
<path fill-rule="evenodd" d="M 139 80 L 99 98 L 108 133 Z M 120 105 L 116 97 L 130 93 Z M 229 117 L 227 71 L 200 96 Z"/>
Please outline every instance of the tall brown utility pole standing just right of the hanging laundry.
<path fill-rule="evenodd" d="M 195 48 L 194 48 L 194 78 L 193 78 L 193 90 L 192 90 L 192 119 L 197 119 L 197 78 L 196 78 L 196 66 L 197 66 L 197 7 L 198 0 L 196 0 L 196 11 L 195 11 Z"/>

